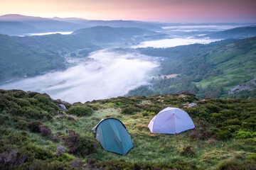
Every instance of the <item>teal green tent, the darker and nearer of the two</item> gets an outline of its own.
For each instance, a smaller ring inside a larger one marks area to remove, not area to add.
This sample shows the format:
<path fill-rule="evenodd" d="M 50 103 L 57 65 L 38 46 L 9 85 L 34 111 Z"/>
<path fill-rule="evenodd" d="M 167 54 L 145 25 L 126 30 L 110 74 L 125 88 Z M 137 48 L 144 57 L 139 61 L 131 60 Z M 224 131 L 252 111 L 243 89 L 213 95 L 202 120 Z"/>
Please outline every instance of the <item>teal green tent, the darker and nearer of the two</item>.
<path fill-rule="evenodd" d="M 92 132 L 107 151 L 125 155 L 133 147 L 132 138 L 124 124 L 115 118 L 100 120 L 100 123 L 92 128 Z"/>

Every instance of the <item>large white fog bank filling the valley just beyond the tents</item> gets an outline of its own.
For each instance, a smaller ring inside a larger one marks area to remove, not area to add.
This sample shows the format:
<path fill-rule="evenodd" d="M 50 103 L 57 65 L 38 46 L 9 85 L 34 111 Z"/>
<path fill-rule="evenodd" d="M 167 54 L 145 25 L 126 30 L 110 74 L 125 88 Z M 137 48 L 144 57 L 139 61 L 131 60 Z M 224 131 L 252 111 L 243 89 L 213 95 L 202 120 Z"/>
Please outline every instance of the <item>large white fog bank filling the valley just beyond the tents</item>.
<path fill-rule="evenodd" d="M 111 50 L 93 52 L 89 60 L 64 72 L 52 72 L 0 86 L 0 89 L 22 89 L 47 93 L 52 98 L 74 103 L 123 96 L 129 90 L 147 83 L 149 73 L 159 63 L 138 53 Z"/>

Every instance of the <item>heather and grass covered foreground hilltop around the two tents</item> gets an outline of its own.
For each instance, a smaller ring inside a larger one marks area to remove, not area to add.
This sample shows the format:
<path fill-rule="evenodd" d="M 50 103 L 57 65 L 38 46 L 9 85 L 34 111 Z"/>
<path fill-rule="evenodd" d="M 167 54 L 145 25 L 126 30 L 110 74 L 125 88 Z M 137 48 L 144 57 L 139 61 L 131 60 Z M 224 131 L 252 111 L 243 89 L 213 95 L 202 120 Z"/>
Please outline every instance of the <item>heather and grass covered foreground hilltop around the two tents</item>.
<path fill-rule="evenodd" d="M 193 108 L 183 108 L 196 102 Z M 62 103 L 64 129 L 58 105 Z M 185 109 L 196 125 L 178 135 L 151 134 L 161 109 Z M 169 94 L 66 103 L 47 94 L 0 91 L 1 169 L 255 169 L 256 100 Z M 124 123 L 134 142 L 126 156 L 106 152 L 91 129 L 102 118 Z"/>

